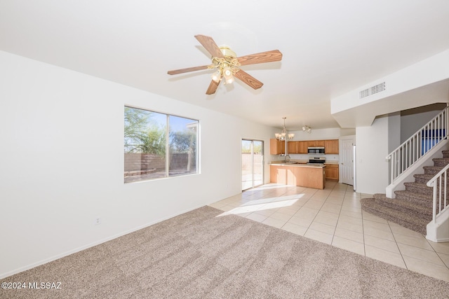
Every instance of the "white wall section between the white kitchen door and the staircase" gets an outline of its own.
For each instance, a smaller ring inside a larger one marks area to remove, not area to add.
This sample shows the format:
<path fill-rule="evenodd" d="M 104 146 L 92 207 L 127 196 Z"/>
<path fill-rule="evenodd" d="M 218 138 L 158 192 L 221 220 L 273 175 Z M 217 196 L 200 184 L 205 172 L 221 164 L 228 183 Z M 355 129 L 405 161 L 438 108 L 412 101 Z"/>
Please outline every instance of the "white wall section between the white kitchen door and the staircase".
<path fill-rule="evenodd" d="M 385 193 L 388 186 L 389 119 L 376 118 L 370 127 L 356 128 L 356 181 L 357 192 Z"/>

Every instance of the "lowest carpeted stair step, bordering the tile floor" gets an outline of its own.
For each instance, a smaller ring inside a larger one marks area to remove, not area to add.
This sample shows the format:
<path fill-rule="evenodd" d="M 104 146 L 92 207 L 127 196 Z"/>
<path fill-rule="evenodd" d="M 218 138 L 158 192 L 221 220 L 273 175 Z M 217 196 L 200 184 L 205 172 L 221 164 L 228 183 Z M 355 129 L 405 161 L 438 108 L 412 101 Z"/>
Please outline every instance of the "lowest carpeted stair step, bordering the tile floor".
<path fill-rule="evenodd" d="M 427 233 L 427 223 L 430 221 L 416 217 L 413 214 L 410 215 L 404 211 L 391 209 L 390 207 L 385 206 L 381 200 L 377 200 L 375 198 L 362 198 L 360 202 L 362 209 L 370 214 L 374 214 L 380 218 L 386 219 L 387 221 L 397 223 L 398 225 L 402 225 L 410 230 L 415 230 L 415 232 L 420 232 L 423 235 L 426 235 Z"/>

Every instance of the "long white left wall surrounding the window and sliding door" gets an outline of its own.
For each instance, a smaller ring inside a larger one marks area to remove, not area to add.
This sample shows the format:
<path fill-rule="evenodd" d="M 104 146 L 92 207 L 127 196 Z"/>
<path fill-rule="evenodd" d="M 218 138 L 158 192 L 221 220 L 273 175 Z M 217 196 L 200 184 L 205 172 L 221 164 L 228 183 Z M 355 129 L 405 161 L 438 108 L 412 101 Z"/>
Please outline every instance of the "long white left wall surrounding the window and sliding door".
<path fill-rule="evenodd" d="M 271 127 L 1 51 L 0 65 L 0 277 L 240 193 L 243 137 L 269 155 Z M 200 120 L 201 174 L 124 184 L 126 104 Z"/>

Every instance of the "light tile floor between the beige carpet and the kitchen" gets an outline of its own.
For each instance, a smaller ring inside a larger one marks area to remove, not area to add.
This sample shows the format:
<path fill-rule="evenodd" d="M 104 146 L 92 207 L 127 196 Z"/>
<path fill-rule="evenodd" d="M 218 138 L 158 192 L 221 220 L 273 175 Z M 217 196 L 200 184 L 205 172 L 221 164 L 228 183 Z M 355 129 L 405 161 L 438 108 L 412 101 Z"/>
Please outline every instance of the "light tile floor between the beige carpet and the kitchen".
<path fill-rule="evenodd" d="M 449 281 L 449 242 L 362 211 L 360 199 L 370 196 L 330 181 L 323 190 L 267 184 L 210 207 Z"/>

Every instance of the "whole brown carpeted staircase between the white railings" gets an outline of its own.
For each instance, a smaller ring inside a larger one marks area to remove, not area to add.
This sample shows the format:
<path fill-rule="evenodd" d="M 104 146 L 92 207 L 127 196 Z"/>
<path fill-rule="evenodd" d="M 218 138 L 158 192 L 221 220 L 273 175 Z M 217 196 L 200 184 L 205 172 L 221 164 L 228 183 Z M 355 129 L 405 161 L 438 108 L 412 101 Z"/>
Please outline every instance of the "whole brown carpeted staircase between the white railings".
<path fill-rule="evenodd" d="M 432 220 L 433 213 L 433 188 L 426 183 L 449 164 L 449 151 L 441 153 L 443 158 L 434 158 L 433 166 L 422 167 L 424 174 L 415 174 L 414 182 L 403 183 L 406 190 L 394 191 L 396 199 L 385 194 L 375 194 L 373 198 L 361 200 L 362 209 L 426 235 L 427 224 Z"/>

